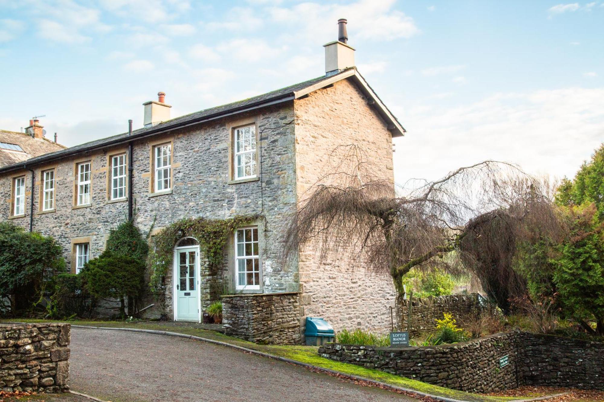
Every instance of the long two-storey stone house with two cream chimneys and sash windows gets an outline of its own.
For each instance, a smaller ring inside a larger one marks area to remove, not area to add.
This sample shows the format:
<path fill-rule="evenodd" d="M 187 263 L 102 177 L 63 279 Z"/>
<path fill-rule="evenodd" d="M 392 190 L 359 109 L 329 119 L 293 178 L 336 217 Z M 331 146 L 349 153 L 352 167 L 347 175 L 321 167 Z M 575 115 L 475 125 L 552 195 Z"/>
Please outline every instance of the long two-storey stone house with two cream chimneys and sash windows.
<path fill-rule="evenodd" d="M 0 219 L 52 235 L 79 272 L 134 205 L 135 223 L 143 232 L 153 226 L 152 235 L 184 217 L 254 214 L 256 222 L 234 231 L 222 270 L 211 274 L 237 290 L 223 298 L 231 333 L 300 342 L 305 316 L 324 317 L 336 330 L 389 330 L 389 277 L 351 266 L 345 253 L 327 265 L 312 250 L 300 250 L 294 263 L 280 259 L 283 217 L 323 177 L 338 145 L 364 148 L 378 173 L 393 179 L 392 139 L 404 129 L 355 68 L 346 40 L 344 31 L 324 45 L 321 77 L 172 119 L 160 92 L 144 103 L 141 129 L 0 168 Z M 15 196 L 22 190 L 25 200 Z M 176 243 L 173 262 L 166 312 L 199 322 L 217 295 L 198 242 Z"/>

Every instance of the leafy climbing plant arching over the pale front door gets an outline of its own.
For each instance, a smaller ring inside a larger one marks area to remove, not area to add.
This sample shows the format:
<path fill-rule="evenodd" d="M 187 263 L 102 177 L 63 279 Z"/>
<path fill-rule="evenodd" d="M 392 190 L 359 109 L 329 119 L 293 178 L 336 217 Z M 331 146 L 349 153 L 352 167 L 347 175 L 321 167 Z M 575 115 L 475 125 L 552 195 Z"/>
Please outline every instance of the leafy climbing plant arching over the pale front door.
<path fill-rule="evenodd" d="M 149 250 L 150 286 L 156 298 L 165 291 L 165 275 L 172 262 L 174 246 L 182 237 L 194 237 L 210 266 L 222 263 L 223 250 L 236 228 L 249 225 L 258 215 L 242 215 L 230 219 L 185 218 L 161 229 L 151 241 Z"/>

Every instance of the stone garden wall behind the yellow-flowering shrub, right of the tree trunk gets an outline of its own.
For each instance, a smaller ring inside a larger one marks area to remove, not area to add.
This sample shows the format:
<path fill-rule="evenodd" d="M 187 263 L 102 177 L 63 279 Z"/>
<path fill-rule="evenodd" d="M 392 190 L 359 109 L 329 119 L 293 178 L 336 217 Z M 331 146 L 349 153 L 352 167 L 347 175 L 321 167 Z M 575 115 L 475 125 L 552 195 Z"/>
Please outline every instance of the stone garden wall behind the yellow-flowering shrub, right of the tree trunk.
<path fill-rule="evenodd" d="M 459 322 L 467 321 L 477 316 L 481 311 L 480 296 L 471 295 L 429 296 L 428 298 L 413 298 L 411 309 L 411 328 L 406 328 L 409 315 L 409 300 L 400 300 L 399 313 L 401 324 L 410 336 L 432 332 L 436 329 L 435 319 L 442 319 L 443 313 L 451 313 Z"/>

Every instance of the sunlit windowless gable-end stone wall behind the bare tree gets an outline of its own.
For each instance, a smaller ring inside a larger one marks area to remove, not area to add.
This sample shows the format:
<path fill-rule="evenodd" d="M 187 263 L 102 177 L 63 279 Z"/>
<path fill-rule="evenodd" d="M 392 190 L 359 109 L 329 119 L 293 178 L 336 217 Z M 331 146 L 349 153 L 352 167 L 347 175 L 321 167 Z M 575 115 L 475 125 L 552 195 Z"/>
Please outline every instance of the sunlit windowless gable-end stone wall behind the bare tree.
<path fill-rule="evenodd" d="M 392 135 L 350 79 L 296 100 L 294 110 L 298 202 L 309 196 L 319 179 L 342 168 L 336 170 L 349 148 L 336 150 L 338 145 L 358 145 L 376 176 L 394 180 Z M 314 244 L 300 250 L 303 316 L 324 317 L 336 331 L 357 327 L 389 331 L 389 307 L 395 307 L 390 275 L 367 272 L 351 258 L 355 254 L 343 246 L 319 264 Z M 304 324 L 302 317 L 301 327 Z"/>

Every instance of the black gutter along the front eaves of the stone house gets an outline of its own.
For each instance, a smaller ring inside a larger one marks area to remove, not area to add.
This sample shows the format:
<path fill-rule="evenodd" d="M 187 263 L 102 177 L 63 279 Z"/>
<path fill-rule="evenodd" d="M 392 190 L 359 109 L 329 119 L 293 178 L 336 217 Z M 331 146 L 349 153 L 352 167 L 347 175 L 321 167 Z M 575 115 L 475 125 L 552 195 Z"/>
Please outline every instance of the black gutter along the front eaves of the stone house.
<path fill-rule="evenodd" d="M 165 129 L 161 129 L 158 127 L 158 129 L 155 129 L 155 130 L 150 129 L 149 131 L 144 132 L 143 134 L 140 134 L 140 135 L 135 134 L 132 137 L 124 136 L 120 139 L 115 139 L 115 141 L 109 141 L 109 142 L 106 142 L 104 144 L 100 144 L 97 146 L 91 146 L 90 148 L 74 150 L 72 152 L 66 152 L 66 153 L 62 153 L 60 155 L 50 155 L 47 157 L 42 156 L 40 159 L 37 159 L 36 161 L 32 161 L 31 164 L 34 164 L 34 165 L 44 164 L 46 162 L 51 162 L 51 161 L 56 161 L 58 159 L 68 158 L 69 156 L 80 155 L 82 153 L 88 152 L 93 149 L 108 148 L 108 147 L 113 147 L 114 145 L 126 144 L 129 141 L 147 138 L 152 135 L 168 133 L 168 132 L 171 132 L 174 130 L 182 129 L 184 127 L 190 127 L 190 126 L 195 126 L 196 124 L 206 123 L 207 121 L 218 120 L 218 119 L 221 119 L 221 118 L 224 118 L 227 116 L 237 115 L 239 113 L 245 113 L 245 112 L 249 112 L 251 110 L 260 109 L 261 107 L 266 107 L 266 106 L 271 106 L 273 104 L 292 101 L 292 100 L 294 100 L 294 98 L 295 98 L 294 95 L 286 95 L 285 97 L 276 98 L 271 101 L 265 101 L 265 102 L 253 104 L 252 106 L 242 107 L 241 109 L 230 110 L 230 112 L 227 112 L 227 113 L 216 113 L 214 115 L 200 118 L 199 120 L 189 121 L 188 123 L 175 124 L 175 126 L 167 127 Z M 67 149 L 69 149 L 69 148 L 67 148 Z M 25 165 L 23 165 L 23 166 L 25 166 Z M 9 171 L 14 171 L 14 170 L 19 170 L 19 169 L 21 169 L 21 165 L 8 165 L 6 167 L 0 168 L 0 173 L 6 173 Z"/>

